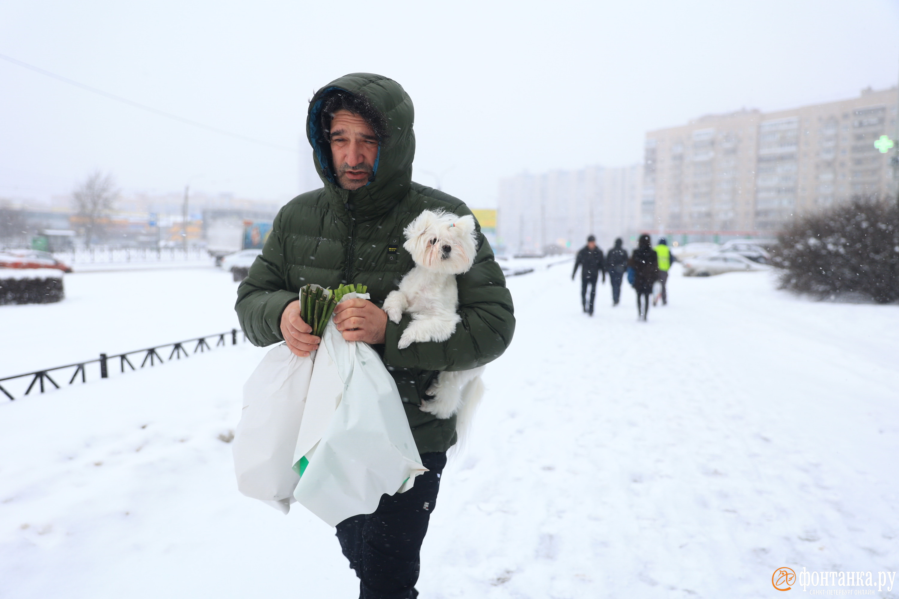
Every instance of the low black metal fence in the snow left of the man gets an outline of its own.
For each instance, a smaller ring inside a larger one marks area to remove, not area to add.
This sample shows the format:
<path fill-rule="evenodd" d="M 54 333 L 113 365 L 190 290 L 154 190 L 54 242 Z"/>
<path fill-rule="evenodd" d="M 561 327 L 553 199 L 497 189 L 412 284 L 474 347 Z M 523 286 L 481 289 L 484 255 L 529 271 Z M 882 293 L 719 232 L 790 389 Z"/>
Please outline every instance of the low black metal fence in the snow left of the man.
<path fill-rule="evenodd" d="M 206 337 L 197 337 L 194 339 L 187 339 L 186 341 L 177 341 L 175 343 L 165 343 L 164 345 L 157 345 L 155 348 L 145 348 L 145 349 L 136 349 L 134 351 L 126 351 L 123 354 L 115 354 L 112 356 L 108 356 L 106 354 L 100 354 L 100 357 L 93 360 L 85 360 L 84 362 L 76 362 L 75 364 L 67 364 L 66 366 L 55 366 L 53 368 L 45 368 L 44 370 L 38 370 L 33 373 L 25 373 L 25 374 L 15 374 L 14 376 L 6 376 L 4 378 L 0 378 L 0 392 L 2 392 L 6 397 L 9 398 L 10 401 L 15 401 L 15 397 L 13 397 L 13 393 L 9 390 L 5 389 L 3 383 L 6 381 L 13 381 L 15 379 L 22 379 L 31 377 L 31 384 L 28 385 L 28 389 L 23 393 L 23 395 L 28 395 L 35 388 L 39 389 L 40 392 L 44 392 L 45 389 L 50 389 L 50 385 L 53 385 L 56 389 L 59 389 L 59 383 L 57 383 L 50 373 L 65 370 L 67 368 L 75 368 L 75 371 L 72 373 L 71 378 L 68 380 L 68 384 L 75 383 L 76 379 L 80 378 L 82 383 L 87 383 L 87 366 L 90 364 L 98 364 L 100 365 L 99 374 L 100 378 L 109 378 L 110 374 L 110 363 L 112 363 L 112 367 L 115 367 L 116 358 L 119 359 L 119 369 L 120 374 L 126 372 L 125 366 L 129 366 L 131 370 L 137 370 L 135 368 L 134 363 L 131 362 L 129 356 L 138 355 L 135 358 L 135 362 L 138 361 L 140 355 L 143 355 L 144 359 L 140 362 L 140 368 L 144 366 L 156 366 L 156 364 L 163 364 L 165 361 L 163 357 L 159 354 L 158 350 L 165 348 L 172 348 L 169 352 L 169 356 L 166 358 L 168 360 L 176 359 L 180 360 L 181 357 L 190 357 L 191 353 L 196 354 L 198 351 L 203 353 L 205 351 L 211 351 L 212 348 L 224 347 L 227 345 L 237 345 L 237 335 L 240 334 L 243 337 L 243 340 L 246 341 L 246 334 L 243 330 L 240 329 L 232 329 L 228 330 L 224 333 L 217 333 L 214 335 L 207 335 Z M 207 339 L 216 339 L 215 345 L 210 346 L 209 341 Z M 228 343 L 230 341 L 230 343 Z M 191 347 L 191 344 L 195 344 L 193 346 L 193 351 L 189 352 L 187 348 Z M 165 354 L 165 351 L 163 352 Z M 64 378 L 60 379 L 64 381 Z M 7 386 L 9 386 L 7 384 Z"/>

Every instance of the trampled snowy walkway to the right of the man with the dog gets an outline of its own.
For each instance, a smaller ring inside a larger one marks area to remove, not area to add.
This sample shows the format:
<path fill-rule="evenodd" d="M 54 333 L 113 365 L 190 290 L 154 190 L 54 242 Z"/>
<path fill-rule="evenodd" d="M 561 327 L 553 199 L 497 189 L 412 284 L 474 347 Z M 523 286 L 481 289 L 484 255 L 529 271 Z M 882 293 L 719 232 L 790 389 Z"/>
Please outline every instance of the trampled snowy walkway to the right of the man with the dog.
<path fill-rule="evenodd" d="M 897 569 L 896 306 L 674 276 L 642 323 L 629 288 L 579 313 L 567 276 L 512 283 L 423 596 L 761 597 L 781 566 Z"/>

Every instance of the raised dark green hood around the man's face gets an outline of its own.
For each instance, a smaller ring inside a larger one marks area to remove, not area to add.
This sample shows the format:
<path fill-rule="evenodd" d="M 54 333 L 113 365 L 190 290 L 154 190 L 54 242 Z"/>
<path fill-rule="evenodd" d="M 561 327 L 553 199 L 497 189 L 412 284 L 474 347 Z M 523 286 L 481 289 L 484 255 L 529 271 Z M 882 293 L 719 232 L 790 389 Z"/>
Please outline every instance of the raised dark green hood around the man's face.
<path fill-rule="evenodd" d="M 343 90 L 359 93 L 380 110 L 387 120 L 389 137 L 378 146 L 374 164 L 374 181 L 360 189 L 342 189 L 334 178 L 328 148 L 321 147 L 319 133 L 321 110 L 327 92 Z M 343 209 L 363 219 L 381 216 L 402 199 L 412 183 L 412 162 L 415 157 L 415 111 L 412 99 L 393 79 L 371 73 L 352 73 L 334 79 L 316 92 L 309 101 L 306 135 L 312 145 L 316 172 L 325 183 L 329 198 Z"/>

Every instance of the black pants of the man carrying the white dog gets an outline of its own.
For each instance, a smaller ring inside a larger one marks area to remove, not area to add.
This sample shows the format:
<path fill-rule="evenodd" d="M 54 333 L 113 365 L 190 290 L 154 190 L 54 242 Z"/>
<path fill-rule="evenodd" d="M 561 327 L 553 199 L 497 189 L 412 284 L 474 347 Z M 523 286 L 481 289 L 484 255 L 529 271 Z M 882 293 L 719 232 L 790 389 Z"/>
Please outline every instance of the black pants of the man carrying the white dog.
<path fill-rule="evenodd" d="M 427 472 L 405 493 L 384 495 L 374 514 L 337 524 L 337 539 L 359 577 L 360 599 L 415 599 L 419 557 L 437 505 L 447 454 L 422 454 Z"/>

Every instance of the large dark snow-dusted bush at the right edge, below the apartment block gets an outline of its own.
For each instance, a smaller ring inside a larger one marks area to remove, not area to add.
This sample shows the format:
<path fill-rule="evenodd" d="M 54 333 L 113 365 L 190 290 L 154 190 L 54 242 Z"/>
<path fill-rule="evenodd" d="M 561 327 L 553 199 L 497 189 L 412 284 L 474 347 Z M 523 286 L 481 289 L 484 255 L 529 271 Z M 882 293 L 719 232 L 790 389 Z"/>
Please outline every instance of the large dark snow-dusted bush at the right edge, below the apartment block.
<path fill-rule="evenodd" d="M 797 219 L 779 235 L 773 259 L 780 287 L 820 298 L 864 295 L 899 300 L 899 207 L 894 200 L 852 198 Z"/>

